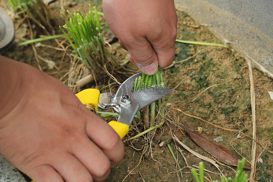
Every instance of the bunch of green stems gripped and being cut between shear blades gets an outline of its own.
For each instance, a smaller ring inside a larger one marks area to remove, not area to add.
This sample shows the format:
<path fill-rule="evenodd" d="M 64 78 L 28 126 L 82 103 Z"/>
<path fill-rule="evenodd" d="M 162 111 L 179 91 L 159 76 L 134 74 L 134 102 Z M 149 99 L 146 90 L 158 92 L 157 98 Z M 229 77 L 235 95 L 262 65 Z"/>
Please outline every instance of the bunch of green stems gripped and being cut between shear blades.
<path fill-rule="evenodd" d="M 142 73 L 142 76 L 136 78 L 133 91 L 148 87 L 165 87 L 165 83 L 163 82 L 163 76 L 159 69 L 154 75 L 147 75 L 145 73 Z M 164 98 L 161 98 L 158 101 L 153 102 L 151 105 L 146 106 L 142 114 L 141 111 L 137 111 L 136 117 L 139 121 L 141 119 L 144 119 L 145 127 L 154 127 L 156 116 L 158 116 L 158 120 L 163 121 L 164 109 L 161 109 L 163 101 Z"/>

